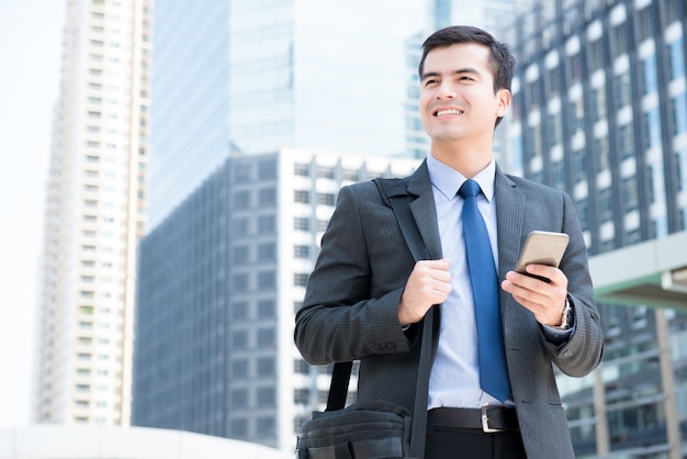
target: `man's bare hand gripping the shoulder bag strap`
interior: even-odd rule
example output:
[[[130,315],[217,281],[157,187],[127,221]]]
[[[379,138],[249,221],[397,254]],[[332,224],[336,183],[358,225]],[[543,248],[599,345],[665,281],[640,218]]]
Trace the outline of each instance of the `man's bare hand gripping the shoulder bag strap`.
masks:
[[[450,266],[448,258],[415,264],[398,304],[398,322],[402,326],[421,321],[432,305],[446,301],[451,292]]]

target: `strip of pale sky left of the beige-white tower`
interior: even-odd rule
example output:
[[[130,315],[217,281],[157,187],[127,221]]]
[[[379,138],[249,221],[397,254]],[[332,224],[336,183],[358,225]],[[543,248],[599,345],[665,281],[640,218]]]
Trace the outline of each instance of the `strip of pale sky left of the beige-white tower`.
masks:
[[[0,428],[27,425],[65,0],[0,0]]]

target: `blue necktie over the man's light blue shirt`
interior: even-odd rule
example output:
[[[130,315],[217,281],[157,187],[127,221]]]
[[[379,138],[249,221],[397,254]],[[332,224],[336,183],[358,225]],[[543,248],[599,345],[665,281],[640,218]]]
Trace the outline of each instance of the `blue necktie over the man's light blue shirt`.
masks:
[[[485,392],[505,402],[510,395],[510,381],[502,333],[498,279],[489,235],[477,209],[481,191],[476,181],[466,180],[458,193],[465,200],[462,217],[477,322],[480,384]]]

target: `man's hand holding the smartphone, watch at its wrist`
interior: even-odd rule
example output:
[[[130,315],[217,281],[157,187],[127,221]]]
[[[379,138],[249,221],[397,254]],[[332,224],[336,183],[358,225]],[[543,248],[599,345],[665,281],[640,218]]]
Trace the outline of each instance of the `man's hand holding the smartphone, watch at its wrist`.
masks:
[[[567,295],[567,278],[563,271],[552,266],[528,265],[526,269],[530,275],[547,278],[551,282],[508,271],[500,283],[502,289],[530,310],[540,324],[561,325]]]

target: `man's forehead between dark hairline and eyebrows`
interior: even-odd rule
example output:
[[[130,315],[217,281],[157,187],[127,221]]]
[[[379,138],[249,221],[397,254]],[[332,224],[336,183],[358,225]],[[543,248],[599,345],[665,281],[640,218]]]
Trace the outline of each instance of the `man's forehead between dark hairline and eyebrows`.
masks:
[[[469,67],[491,74],[489,57],[489,48],[477,43],[437,47],[427,53],[423,74],[455,71]]]

